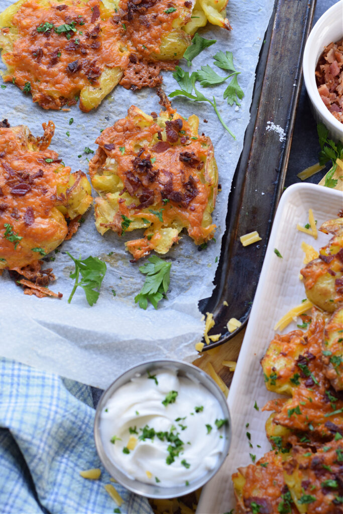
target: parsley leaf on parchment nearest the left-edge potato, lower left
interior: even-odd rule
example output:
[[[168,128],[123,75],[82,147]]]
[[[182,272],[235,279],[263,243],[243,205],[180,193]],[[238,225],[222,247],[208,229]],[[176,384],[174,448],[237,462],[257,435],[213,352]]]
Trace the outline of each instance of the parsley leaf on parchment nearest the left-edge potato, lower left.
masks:
[[[67,255],[69,255],[70,259],[75,263],[75,271],[70,273],[70,278],[75,279],[75,284],[68,298],[68,303],[71,302],[76,288],[80,286],[85,292],[88,304],[91,306],[94,305],[99,298],[100,293],[97,289],[100,289],[105,276],[106,264],[91,255],[83,261],[75,259],[69,252],[67,252]],[[82,279],[79,282],[80,273]]]

